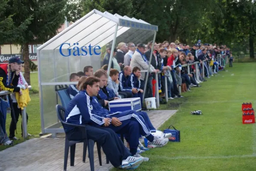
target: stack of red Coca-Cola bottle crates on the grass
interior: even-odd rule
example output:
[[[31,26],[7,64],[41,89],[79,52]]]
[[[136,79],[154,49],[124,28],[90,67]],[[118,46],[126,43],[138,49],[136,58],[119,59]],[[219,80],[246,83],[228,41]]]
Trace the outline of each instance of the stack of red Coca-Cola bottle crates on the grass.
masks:
[[[252,103],[243,103],[242,104],[243,111],[243,124],[254,124],[255,123],[255,113],[253,110]]]

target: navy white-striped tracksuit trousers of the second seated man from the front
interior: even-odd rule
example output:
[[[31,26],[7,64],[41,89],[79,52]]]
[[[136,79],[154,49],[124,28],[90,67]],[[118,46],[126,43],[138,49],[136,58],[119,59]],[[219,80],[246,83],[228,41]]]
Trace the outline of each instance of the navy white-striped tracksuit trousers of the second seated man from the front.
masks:
[[[140,118],[139,114],[135,110],[107,115],[107,117],[116,117],[122,122],[122,125],[119,127],[115,127],[113,124],[110,124],[108,128],[114,130],[116,133],[127,135],[125,139],[129,143],[131,155],[135,155],[137,153],[140,135],[145,136],[150,142],[154,140],[154,136],[149,132],[145,121]]]

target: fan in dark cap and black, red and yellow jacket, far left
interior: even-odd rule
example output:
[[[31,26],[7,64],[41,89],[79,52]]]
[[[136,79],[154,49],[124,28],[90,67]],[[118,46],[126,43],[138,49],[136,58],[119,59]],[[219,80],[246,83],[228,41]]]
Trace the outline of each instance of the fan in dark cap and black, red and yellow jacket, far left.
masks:
[[[12,57],[9,59],[9,64],[3,64],[0,65],[0,89],[1,91],[11,91],[11,92],[20,92],[22,94],[22,91],[18,85],[18,79],[19,79],[19,71],[21,70],[22,64],[24,62],[21,61],[19,57]],[[18,140],[18,138],[15,137],[15,128],[16,124],[18,122],[18,118],[20,115],[20,109],[18,109],[18,103],[13,103],[13,109],[15,113],[15,121],[11,121],[10,124],[10,134],[9,139]]]

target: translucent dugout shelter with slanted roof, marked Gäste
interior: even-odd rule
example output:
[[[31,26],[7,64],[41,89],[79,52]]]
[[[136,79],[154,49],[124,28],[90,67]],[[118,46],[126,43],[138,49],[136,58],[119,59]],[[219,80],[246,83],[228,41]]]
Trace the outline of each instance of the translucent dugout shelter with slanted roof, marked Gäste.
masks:
[[[78,48],[89,44],[92,47],[98,45],[101,47],[101,53],[103,54],[107,46],[112,47],[110,54],[110,62],[112,62],[116,42],[138,44],[153,39],[153,48],[157,31],[158,26],[151,25],[143,20],[127,16],[122,17],[118,14],[112,15],[109,12],[102,13],[94,9],[37,48],[41,134],[52,133],[52,136],[56,137],[56,133],[64,133],[63,128],[60,128],[61,123],[55,110],[55,106],[60,100],[58,100],[59,97],[54,86],[76,84],[69,81],[69,75],[83,71],[83,67],[86,65],[92,65],[94,70],[101,68],[99,61],[102,56],[91,54],[86,56],[60,56],[58,48],[61,44],[71,44],[70,47],[65,47],[66,53],[74,48],[73,43],[76,45],[78,43]],[[149,63],[151,63],[151,60],[152,52]],[[110,65],[107,73],[109,74],[109,72]],[[148,76],[149,70],[145,81],[148,80]],[[146,92],[145,88],[144,94]]]

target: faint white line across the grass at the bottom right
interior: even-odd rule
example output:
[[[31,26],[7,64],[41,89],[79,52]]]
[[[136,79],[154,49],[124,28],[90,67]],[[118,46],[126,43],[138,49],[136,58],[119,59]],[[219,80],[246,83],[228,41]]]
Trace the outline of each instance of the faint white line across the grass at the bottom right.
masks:
[[[167,160],[178,160],[178,159],[231,159],[231,158],[249,158],[256,157],[256,154],[251,155],[234,155],[234,156],[179,156],[179,157],[167,157],[167,156],[158,156],[152,155],[148,156],[149,158],[157,159],[167,159]]]

